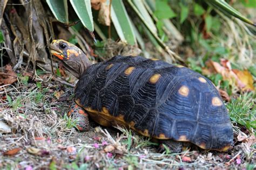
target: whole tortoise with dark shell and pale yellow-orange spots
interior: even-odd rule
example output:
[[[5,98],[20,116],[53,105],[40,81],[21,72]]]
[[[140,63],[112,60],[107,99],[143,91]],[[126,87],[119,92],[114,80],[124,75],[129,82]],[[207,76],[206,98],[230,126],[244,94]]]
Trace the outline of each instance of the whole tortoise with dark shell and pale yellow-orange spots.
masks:
[[[126,126],[180,152],[186,141],[205,150],[227,151],[233,130],[214,84],[184,66],[142,56],[92,64],[68,41],[53,40],[50,51],[79,81],[68,116],[89,130],[89,118],[103,126]]]

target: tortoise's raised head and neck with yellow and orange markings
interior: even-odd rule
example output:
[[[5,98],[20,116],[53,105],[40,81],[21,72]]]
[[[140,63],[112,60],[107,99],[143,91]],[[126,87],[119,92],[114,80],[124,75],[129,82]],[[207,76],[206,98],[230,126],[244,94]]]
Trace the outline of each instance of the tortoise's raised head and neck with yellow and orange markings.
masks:
[[[62,39],[51,42],[50,52],[52,55],[57,56],[64,63],[64,67],[78,79],[86,68],[92,65],[80,48]]]

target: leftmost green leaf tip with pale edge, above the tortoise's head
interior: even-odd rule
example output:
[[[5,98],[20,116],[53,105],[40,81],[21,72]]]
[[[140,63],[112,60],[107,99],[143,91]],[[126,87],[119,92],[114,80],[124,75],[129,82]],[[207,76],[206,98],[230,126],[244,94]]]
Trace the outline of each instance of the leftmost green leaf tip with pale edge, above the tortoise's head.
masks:
[[[46,0],[55,18],[62,23],[69,23],[68,2],[66,0]]]

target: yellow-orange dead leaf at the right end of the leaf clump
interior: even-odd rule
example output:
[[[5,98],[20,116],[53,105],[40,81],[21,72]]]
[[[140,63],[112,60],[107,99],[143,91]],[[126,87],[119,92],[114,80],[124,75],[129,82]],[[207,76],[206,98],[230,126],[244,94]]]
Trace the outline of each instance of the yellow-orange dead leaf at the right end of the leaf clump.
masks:
[[[238,76],[238,79],[245,84],[244,87],[242,87],[242,91],[253,91],[253,77],[248,70],[240,71],[238,69],[232,69],[232,71]]]

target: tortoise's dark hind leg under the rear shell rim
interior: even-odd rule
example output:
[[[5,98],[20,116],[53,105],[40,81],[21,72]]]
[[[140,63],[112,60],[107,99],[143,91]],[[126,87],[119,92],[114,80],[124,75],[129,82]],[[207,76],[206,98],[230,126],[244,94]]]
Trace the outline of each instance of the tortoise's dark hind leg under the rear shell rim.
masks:
[[[183,143],[175,140],[159,140],[160,145],[158,147],[158,152],[164,152],[165,146],[169,148],[171,153],[180,153],[182,151]],[[164,146],[165,145],[165,146]]]

